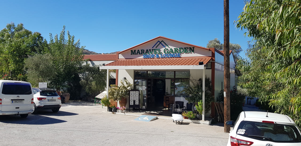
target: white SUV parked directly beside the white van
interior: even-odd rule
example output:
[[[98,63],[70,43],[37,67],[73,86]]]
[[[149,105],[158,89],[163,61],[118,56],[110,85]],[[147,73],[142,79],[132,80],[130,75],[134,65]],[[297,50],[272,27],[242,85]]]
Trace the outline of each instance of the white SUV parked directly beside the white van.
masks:
[[[48,109],[58,112],[62,106],[61,96],[50,88],[33,88],[33,102],[33,114],[36,114],[37,110]]]

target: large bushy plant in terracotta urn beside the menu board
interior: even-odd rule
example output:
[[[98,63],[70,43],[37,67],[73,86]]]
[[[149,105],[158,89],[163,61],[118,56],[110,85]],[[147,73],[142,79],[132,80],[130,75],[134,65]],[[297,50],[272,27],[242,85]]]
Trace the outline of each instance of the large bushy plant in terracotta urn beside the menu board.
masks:
[[[111,88],[109,90],[109,97],[111,100],[119,101],[119,105],[121,107],[126,106],[126,96],[129,94],[129,90],[131,89],[132,84],[130,84],[128,81],[125,81],[126,84],[121,80],[120,86],[117,86],[115,84],[110,85]]]

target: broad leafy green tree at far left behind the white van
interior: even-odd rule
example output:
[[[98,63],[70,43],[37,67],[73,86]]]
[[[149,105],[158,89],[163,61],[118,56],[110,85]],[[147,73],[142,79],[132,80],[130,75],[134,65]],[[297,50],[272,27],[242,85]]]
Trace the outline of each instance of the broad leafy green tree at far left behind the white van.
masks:
[[[47,42],[46,42],[47,44]],[[39,32],[31,32],[20,23],[13,22],[0,31],[0,72],[16,80],[24,74],[24,59],[33,52],[39,52],[45,47],[45,41]]]

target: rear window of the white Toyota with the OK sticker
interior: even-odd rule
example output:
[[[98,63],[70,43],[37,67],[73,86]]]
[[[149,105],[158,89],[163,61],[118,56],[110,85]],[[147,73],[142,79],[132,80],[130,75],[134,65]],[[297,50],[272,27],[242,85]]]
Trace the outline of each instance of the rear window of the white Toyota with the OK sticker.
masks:
[[[248,138],[274,142],[301,142],[301,135],[293,125],[242,121],[236,133]]]

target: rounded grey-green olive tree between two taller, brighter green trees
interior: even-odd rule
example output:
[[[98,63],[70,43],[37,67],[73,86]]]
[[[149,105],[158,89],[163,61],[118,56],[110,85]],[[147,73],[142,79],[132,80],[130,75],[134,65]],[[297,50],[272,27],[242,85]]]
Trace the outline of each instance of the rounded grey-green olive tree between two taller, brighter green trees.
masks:
[[[36,54],[25,60],[28,81],[38,87],[39,82],[48,82],[55,78],[55,66],[51,54]]]

